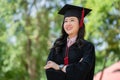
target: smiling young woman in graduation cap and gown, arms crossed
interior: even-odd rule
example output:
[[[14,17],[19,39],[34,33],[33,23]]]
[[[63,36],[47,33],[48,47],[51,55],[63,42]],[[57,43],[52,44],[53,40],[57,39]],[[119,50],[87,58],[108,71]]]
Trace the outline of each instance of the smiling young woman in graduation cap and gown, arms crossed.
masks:
[[[47,80],[93,80],[95,49],[84,40],[84,17],[90,9],[66,4],[59,14],[64,15],[62,35],[58,38],[45,65]]]

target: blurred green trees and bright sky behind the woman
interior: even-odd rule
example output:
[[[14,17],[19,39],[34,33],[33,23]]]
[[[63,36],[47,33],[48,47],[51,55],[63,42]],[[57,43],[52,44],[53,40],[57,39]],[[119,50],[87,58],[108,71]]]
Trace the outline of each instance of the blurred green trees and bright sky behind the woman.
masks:
[[[120,60],[120,0],[0,0],[0,80],[46,80],[66,3],[92,9],[84,22],[96,48],[95,74]]]

